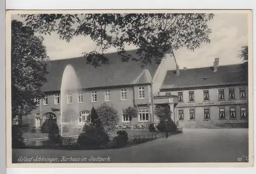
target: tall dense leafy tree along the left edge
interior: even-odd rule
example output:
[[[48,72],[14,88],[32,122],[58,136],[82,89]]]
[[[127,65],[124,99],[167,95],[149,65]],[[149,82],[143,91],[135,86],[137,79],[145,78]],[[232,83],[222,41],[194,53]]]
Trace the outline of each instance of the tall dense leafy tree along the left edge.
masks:
[[[40,88],[46,82],[48,56],[42,37],[31,27],[12,20],[11,29],[12,118],[18,116],[22,126],[22,117],[37,107],[35,98],[44,97]]]

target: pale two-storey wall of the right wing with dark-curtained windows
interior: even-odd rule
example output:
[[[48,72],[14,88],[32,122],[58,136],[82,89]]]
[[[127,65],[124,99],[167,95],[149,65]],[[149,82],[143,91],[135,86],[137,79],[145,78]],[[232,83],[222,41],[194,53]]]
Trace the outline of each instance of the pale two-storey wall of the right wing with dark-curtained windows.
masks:
[[[245,88],[245,99],[240,99],[240,88]],[[224,90],[224,99],[219,100],[218,90]],[[235,98],[229,99],[229,89],[234,89]],[[209,100],[204,101],[203,91],[209,91]],[[188,92],[194,91],[195,101],[189,101]],[[189,89],[189,90],[179,90],[179,91],[169,91],[161,92],[161,94],[172,93],[178,95],[178,92],[183,93],[183,102],[178,102],[175,107],[175,121],[179,127],[197,127],[197,126],[207,126],[214,125],[218,123],[237,123],[237,122],[248,122],[248,119],[240,118],[241,107],[246,107],[246,113],[248,118],[248,86],[238,85],[238,86],[225,86],[218,88],[209,89]],[[236,108],[236,119],[230,119],[230,107]],[[209,108],[210,119],[204,120],[204,109]],[[219,108],[225,108],[225,119],[219,119]],[[183,110],[184,120],[178,120],[178,111]],[[195,110],[195,120],[189,120],[189,110]]]

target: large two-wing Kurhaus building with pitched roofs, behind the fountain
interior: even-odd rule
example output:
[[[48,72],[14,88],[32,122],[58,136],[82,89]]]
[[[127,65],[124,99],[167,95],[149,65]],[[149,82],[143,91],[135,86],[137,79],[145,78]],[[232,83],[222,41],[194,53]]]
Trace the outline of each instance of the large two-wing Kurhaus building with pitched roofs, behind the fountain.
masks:
[[[131,51],[130,54],[135,54]],[[100,67],[87,64],[85,57],[51,61],[38,107],[23,123],[40,127],[50,116],[60,124],[60,86],[63,71],[70,64],[81,90],[65,96],[66,102],[79,105],[78,125],[87,121],[91,108],[105,103],[119,113],[121,124],[130,122],[122,115],[128,106],[137,107],[133,124],[159,122],[154,114],[157,104],[168,104],[179,127],[248,121],[248,82],[242,80],[238,65],[179,70],[171,57],[141,66],[139,61],[121,62],[117,53],[108,54],[109,63]],[[168,62],[168,64],[167,64]]]

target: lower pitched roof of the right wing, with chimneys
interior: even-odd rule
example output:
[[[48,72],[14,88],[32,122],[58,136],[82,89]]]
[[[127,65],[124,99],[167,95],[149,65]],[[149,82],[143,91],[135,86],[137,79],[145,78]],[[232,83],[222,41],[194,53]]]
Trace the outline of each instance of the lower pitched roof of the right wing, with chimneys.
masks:
[[[179,75],[176,75],[176,70],[167,71],[160,90],[247,83],[248,79],[244,80],[239,74],[238,66],[219,66],[217,72],[213,67],[186,69],[180,70]]]

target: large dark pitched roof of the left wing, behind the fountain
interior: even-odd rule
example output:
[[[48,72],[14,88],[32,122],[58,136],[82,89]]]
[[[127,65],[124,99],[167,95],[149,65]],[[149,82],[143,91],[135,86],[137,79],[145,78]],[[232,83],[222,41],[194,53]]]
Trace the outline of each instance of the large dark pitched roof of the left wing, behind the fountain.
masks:
[[[129,54],[135,57],[136,50],[129,51]],[[82,89],[150,83],[147,72],[150,72],[152,79],[158,67],[154,61],[143,68],[140,61],[121,62],[121,57],[117,53],[106,54],[106,57],[109,58],[109,63],[96,68],[87,64],[86,57],[51,61],[50,66],[47,67],[49,74],[46,78],[48,81],[42,86],[42,91],[60,91],[62,74],[68,64],[74,68]],[[144,73],[146,80],[142,80]],[[142,79],[138,78],[140,75]],[[137,78],[138,81],[134,83]]]

